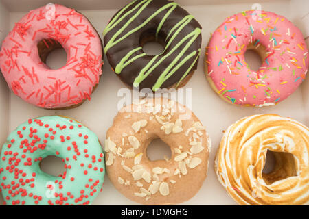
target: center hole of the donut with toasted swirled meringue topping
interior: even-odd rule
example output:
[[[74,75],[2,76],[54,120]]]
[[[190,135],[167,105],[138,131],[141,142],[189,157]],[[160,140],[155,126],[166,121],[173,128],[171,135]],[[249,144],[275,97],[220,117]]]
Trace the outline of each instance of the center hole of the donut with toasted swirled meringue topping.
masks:
[[[267,150],[262,177],[267,185],[297,176],[297,158],[286,152]]]

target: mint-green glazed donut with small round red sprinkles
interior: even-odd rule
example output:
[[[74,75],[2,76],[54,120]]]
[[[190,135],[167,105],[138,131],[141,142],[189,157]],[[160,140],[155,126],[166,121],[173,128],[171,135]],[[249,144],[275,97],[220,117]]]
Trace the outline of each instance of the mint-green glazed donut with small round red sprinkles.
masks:
[[[42,159],[62,158],[65,172],[43,172]],[[63,116],[29,119],[3,144],[0,191],[6,205],[89,205],[104,183],[104,154],[95,133]]]

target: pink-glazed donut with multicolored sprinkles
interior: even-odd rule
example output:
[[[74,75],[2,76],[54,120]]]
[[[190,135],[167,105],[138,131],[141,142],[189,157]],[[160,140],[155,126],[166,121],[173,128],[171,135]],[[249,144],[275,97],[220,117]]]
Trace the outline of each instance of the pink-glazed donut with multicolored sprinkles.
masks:
[[[258,71],[244,60],[247,50],[262,60]],[[214,31],[205,54],[205,75],[211,88],[228,103],[275,105],[304,81],[308,49],[301,31],[287,18],[249,10],[225,19]]]

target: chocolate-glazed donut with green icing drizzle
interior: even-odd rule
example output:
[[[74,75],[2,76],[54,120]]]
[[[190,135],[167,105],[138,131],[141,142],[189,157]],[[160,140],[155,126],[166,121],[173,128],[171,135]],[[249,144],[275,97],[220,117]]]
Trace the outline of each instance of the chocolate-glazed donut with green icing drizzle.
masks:
[[[184,86],[201,53],[201,25],[172,1],[128,3],[111,18],[103,36],[112,70],[126,86],[139,90]],[[143,45],[153,41],[163,46],[161,54],[144,53]]]

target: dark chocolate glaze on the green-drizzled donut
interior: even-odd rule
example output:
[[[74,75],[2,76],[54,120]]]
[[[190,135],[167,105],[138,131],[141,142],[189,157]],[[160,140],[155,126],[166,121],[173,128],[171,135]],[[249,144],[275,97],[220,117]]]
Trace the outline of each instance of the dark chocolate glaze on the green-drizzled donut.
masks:
[[[148,5],[146,5],[147,3]],[[155,15],[150,21],[148,21],[148,23],[142,25],[142,23],[144,23],[146,19],[150,18],[150,16],[158,12],[160,8],[171,3],[174,5],[166,7],[164,10]],[[141,7],[143,7],[144,5],[146,5],[146,7],[144,8],[144,10],[141,10]],[[130,12],[130,10],[133,10],[133,8],[135,7],[136,9]],[[170,68],[170,70],[175,69],[177,64],[179,64],[180,67],[176,71],[174,71],[174,73],[172,73],[172,75],[168,77],[168,79],[164,79],[163,83],[159,83],[159,86],[157,84],[157,88],[170,88],[172,86],[176,86],[177,83],[185,80],[186,77],[189,77],[190,73],[196,70],[198,56],[201,51],[201,25],[199,25],[199,23],[191,16],[192,18],[188,20],[187,24],[184,25],[182,29],[180,29],[179,27],[181,27],[181,24],[183,24],[183,21],[185,21],[184,18],[186,16],[189,16],[187,11],[183,10],[183,8],[181,8],[179,5],[176,5],[176,3],[166,0],[136,0],[133,3],[130,3],[128,8],[126,8],[124,11],[121,12],[121,10],[119,10],[111,19],[109,25],[112,28],[108,29],[109,27],[106,27],[108,31],[106,31],[106,29],[104,31],[105,51],[107,50],[106,56],[113,70],[115,70],[117,64],[119,64],[119,62],[121,62],[121,60],[126,55],[128,55],[128,53],[130,53],[130,51],[133,51],[138,47],[142,47],[142,45],[146,42],[157,40],[163,45],[163,47],[165,47],[166,44],[168,44],[169,40],[172,38],[173,34],[175,34],[178,29],[180,31],[178,34],[175,34],[174,40],[170,42],[170,45],[165,49],[165,51],[163,51],[161,55],[159,55],[159,57],[157,57],[157,59],[155,60],[155,62],[152,63],[151,66],[154,66],[157,61],[160,60],[164,55],[170,53],[170,51],[175,48],[176,45],[179,44],[179,42],[183,43],[180,47],[178,47],[175,51],[168,55],[163,60],[163,62],[159,63],[159,65],[153,68],[151,73],[139,83],[139,90],[143,88],[150,88],[152,90],[155,90],[154,86],[155,83],[158,81],[160,75],[164,72],[164,70],[168,68],[168,66],[173,62],[173,60],[176,59],[177,55],[179,55],[181,51],[183,51],[186,45],[187,50],[185,50],[183,55],[181,55],[180,59],[174,64],[174,66],[172,66],[172,68]],[[140,13],[139,10],[141,10]],[[127,12],[130,12],[130,14],[128,14],[128,16],[126,16],[122,21],[119,21],[119,19],[121,19],[122,16],[124,16],[124,14],[126,14]],[[133,18],[133,16],[136,17]],[[125,27],[122,31],[121,28],[124,27],[126,23],[128,23],[130,18],[133,18],[133,21],[129,23],[128,26]],[[161,29],[159,30],[158,36],[156,38],[158,26],[164,18],[166,19],[163,22],[163,25],[161,26]],[[129,31],[132,31],[140,25],[140,29],[133,32],[132,34],[129,34],[123,40],[117,42],[116,44],[113,44],[113,37],[114,40],[117,41],[124,35],[128,34]],[[175,25],[176,28],[171,31],[171,29],[175,27]],[[188,35],[192,34],[194,31],[195,38],[194,36],[189,37]],[[115,38],[115,34],[117,34],[117,32],[118,34],[120,34]],[[183,38],[187,39],[183,40]],[[190,42],[190,40],[193,41]],[[108,43],[109,45],[111,43],[113,45],[111,47],[106,47],[108,46]],[[192,55],[194,51],[195,53],[194,55]],[[137,51],[134,51],[134,53],[129,56],[128,60],[131,60],[137,55],[140,56],[133,60],[133,62],[130,62],[130,64],[122,68],[120,73],[118,72],[120,79],[122,79],[122,81],[124,81],[124,83],[126,83],[130,88],[133,88],[133,83],[135,82],[136,77],[141,73],[141,70],[143,70],[145,66],[155,57],[154,55],[146,54],[141,56],[141,54],[143,53],[144,51],[142,49],[137,49]],[[187,60],[183,62],[186,57]],[[180,62],[183,62],[183,64],[181,64]]]

